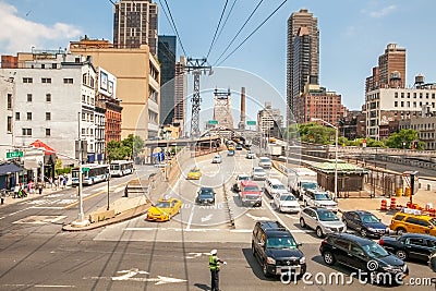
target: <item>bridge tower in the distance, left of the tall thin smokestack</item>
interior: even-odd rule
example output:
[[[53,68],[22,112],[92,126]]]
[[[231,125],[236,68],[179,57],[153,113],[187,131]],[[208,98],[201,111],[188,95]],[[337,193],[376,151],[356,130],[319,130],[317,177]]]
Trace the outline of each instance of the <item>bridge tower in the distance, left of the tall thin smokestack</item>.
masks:
[[[214,95],[214,120],[218,121],[218,126],[233,130],[230,89],[227,92],[215,89]]]

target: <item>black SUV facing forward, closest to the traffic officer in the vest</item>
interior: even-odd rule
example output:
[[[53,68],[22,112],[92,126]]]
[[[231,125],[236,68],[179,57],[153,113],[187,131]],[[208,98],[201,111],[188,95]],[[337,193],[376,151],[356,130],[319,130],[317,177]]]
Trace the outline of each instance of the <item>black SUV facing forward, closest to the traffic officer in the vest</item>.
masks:
[[[305,257],[299,246],[291,232],[278,221],[257,221],[254,226],[252,252],[265,277],[306,272]]]

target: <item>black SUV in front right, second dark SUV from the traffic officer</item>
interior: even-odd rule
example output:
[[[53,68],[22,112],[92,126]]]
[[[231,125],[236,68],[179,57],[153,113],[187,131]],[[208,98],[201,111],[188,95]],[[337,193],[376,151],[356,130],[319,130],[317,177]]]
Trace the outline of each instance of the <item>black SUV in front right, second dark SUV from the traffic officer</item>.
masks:
[[[402,259],[378,243],[354,234],[331,233],[322,242],[319,252],[327,265],[340,263],[354,268],[354,278],[370,283],[400,284],[409,275]]]

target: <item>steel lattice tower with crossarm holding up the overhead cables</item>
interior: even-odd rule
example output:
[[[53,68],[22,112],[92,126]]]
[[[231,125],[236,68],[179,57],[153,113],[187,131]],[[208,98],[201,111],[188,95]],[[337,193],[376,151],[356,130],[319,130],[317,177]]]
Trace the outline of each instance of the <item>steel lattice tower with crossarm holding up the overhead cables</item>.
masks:
[[[202,73],[209,72],[213,74],[211,66],[208,65],[207,59],[193,59],[187,58],[186,65],[184,66],[186,72],[192,72],[194,75],[194,92],[191,98],[192,101],[192,116],[191,116],[191,136],[199,136],[199,106],[202,98],[199,97],[199,76]]]

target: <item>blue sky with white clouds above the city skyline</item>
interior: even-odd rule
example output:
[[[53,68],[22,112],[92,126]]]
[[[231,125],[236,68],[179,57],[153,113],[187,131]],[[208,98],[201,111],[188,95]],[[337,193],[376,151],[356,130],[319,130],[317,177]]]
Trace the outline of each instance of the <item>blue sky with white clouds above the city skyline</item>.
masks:
[[[234,0],[229,0],[228,9]],[[156,0],[159,4],[159,0]],[[167,0],[189,57],[202,58],[209,46],[219,21],[225,0]],[[214,64],[227,44],[237,34],[257,0],[237,0],[233,11],[209,53]],[[230,48],[231,51],[265,20],[282,1],[265,0],[254,17]],[[165,1],[161,0],[165,5]],[[396,43],[407,49],[407,84],[413,85],[414,75],[422,73],[426,82],[436,82],[434,37],[434,0],[289,0],[221,66],[256,75],[268,89],[243,84],[247,94],[271,100],[281,107],[277,93],[286,98],[287,20],[292,12],[308,9],[318,19],[320,31],[320,85],[342,95],[349,109],[364,104],[365,77],[377,65],[378,56],[387,44]],[[225,14],[226,16],[226,14]],[[0,53],[58,49],[69,40],[87,35],[112,40],[113,8],[109,0],[0,0]],[[162,9],[159,13],[159,34],[174,35]],[[182,54],[178,44],[178,56]],[[239,90],[232,80],[211,87]],[[257,82],[255,82],[257,83]],[[207,88],[205,88],[207,89]]]

